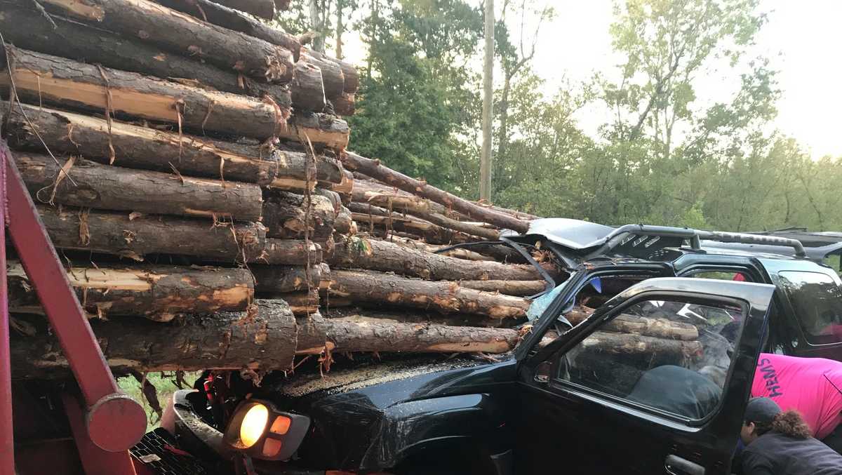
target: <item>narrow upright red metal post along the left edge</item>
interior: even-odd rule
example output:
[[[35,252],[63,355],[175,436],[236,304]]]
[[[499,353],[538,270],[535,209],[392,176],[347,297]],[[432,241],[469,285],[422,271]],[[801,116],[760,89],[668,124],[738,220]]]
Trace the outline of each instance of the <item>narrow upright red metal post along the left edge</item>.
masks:
[[[0,475],[14,475],[12,364],[6,286],[6,162],[9,159],[6,151],[0,149]]]

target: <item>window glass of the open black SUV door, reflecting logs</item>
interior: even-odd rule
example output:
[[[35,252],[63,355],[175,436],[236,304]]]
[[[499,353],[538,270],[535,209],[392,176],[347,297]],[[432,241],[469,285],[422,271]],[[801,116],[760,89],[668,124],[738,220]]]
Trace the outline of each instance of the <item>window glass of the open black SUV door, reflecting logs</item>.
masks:
[[[742,320],[739,307],[637,302],[562,355],[557,379],[703,419],[721,398]]]

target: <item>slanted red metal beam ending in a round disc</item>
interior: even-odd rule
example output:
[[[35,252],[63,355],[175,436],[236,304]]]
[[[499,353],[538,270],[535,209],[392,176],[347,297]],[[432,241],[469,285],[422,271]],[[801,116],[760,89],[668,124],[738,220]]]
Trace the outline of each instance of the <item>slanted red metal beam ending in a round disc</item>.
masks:
[[[146,413],[139,403],[117,387],[88,318],[3,141],[0,141],[0,153],[6,157],[9,235],[82,389],[87,406],[84,419],[90,440],[105,451],[126,451],[141,440],[146,431]],[[8,306],[3,307],[8,310]]]

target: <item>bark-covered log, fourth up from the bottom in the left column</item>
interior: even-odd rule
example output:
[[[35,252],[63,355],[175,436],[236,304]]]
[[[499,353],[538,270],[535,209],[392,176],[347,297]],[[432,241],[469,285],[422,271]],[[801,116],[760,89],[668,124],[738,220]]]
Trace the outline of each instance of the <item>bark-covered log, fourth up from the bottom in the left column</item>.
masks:
[[[243,221],[260,221],[262,215],[257,184],[179,179],[171,173],[111,167],[83,158],[71,159],[67,168],[46,155],[16,152],[13,157],[29,194],[40,203]]]

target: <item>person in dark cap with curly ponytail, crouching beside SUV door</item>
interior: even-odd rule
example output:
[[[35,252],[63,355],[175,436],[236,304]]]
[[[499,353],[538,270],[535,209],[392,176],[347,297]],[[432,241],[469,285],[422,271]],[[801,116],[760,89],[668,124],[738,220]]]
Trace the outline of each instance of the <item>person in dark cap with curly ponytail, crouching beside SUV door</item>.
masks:
[[[842,456],[813,439],[797,411],[752,398],[743,419],[743,475],[842,475]]]

